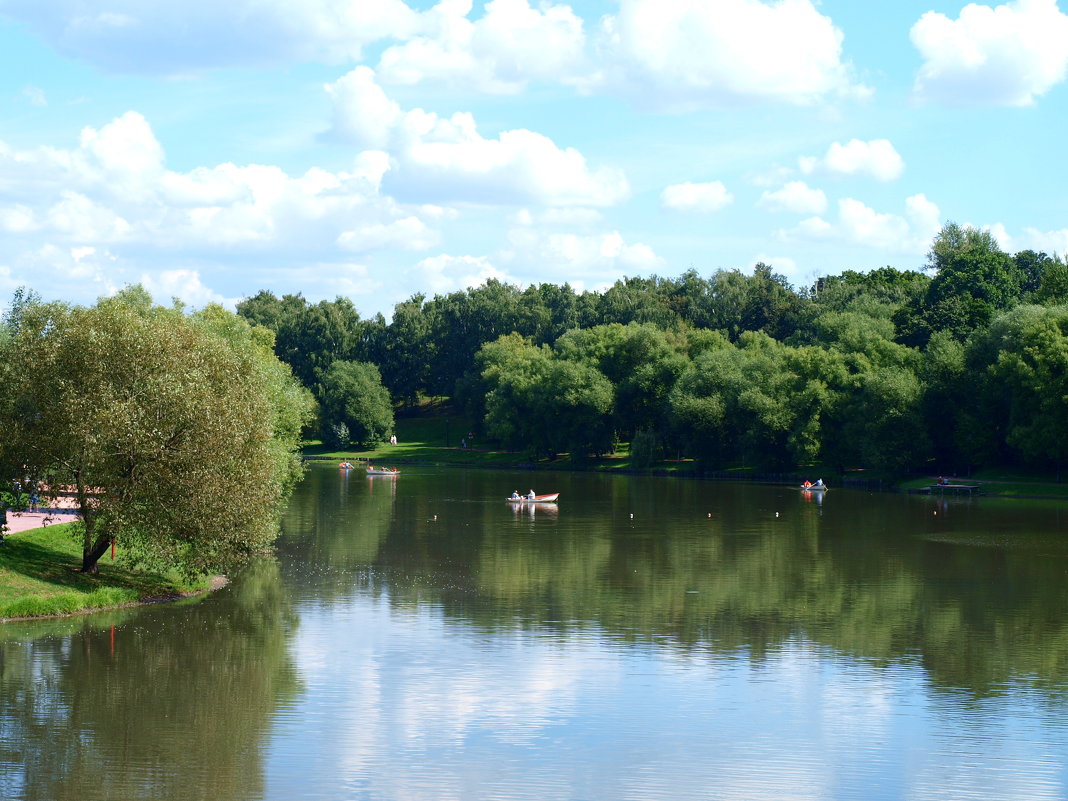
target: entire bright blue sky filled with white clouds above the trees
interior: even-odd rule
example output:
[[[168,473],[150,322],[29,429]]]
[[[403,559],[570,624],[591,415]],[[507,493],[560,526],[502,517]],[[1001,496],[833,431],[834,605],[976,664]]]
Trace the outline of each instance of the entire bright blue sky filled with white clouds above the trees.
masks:
[[[1064,254],[1066,10],[0,0],[0,304]]]

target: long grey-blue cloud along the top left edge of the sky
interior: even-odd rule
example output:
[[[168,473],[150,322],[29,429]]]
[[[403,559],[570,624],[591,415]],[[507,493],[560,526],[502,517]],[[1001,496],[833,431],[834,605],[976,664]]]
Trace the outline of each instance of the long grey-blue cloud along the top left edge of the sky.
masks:
[[[403,0],[4,0],[2,7],[67,56],[163,75],[350,61],[368,44],[408,38],[424,25]]]

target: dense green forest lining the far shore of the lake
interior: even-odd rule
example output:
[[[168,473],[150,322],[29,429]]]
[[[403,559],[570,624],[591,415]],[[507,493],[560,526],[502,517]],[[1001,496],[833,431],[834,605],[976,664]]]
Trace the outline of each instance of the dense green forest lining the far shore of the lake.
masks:
[[[794,287],[752,274],[625,278],[604,292],[488,281],[415,295],[392,319],[345,299],[261,292],[238,313],[320,404],[339,445],[447,397],[532,456],[690,456],[962,472],[1059,468],[1068,452],[1068,264],[946,224],[923,270]]]

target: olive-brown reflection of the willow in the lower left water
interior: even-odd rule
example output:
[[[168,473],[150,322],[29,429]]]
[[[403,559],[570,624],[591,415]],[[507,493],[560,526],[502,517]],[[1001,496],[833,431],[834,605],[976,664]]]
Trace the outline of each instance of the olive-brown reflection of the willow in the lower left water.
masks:
[[[185,609],[0,629],[0,797],[262,798],[294,622],[265,562]]]

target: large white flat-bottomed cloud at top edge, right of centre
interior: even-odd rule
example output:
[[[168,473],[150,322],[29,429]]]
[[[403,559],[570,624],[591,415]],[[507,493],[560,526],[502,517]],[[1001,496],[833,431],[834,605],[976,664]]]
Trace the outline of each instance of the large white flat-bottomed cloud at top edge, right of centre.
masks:
[[[602,20],[603,72],[587,85],[680,108],[864,96],[842,42],[810,0],[621,0]]]

